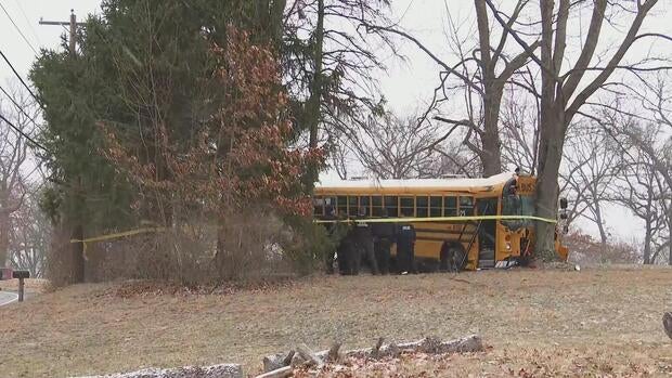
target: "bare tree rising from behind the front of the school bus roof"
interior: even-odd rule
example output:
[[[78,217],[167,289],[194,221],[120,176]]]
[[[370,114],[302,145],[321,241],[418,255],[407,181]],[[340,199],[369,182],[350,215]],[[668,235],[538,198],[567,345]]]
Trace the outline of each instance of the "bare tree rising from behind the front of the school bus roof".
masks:
[[[527,51],[508,54],[506,51],[509,40],[509,29],[522,14],[528,0],[519,0],[511,9],[507,28],[497,32],[491,25],[488,8],[484,0],[475,0],[475,13],[478,40],[475,44],[465,48],[467,38],[460,36],[460,30],[452,19],[448,1],[445,15],[448,18],[449,41],[452,57],[442,57],[439,52],[432,51],[417,37],[402,30],[397,25],[366,25],[370,30],[385,30],[400,36],[412,42],[439,67],[439,84],[435,89],[426,116],[441,103],[455,99],[451,93],[456,89],[464,90],[464,107],[466,118],[437,117],[436,119],[449,125],[462,126],[467,129],[465,144],[478,155],[484,175],[496,174],[502,171],[502,155],[500,140],[500,108],[506,82],[529,60]],[[539,45],[532,42],[529,47],[534,50]],[[473,140],[477,142],[474,143]]]

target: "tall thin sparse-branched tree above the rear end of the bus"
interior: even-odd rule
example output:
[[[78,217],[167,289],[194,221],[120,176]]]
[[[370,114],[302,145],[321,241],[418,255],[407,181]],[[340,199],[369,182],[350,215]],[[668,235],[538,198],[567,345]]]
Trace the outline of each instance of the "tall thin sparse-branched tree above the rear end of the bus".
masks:
[[[389,0],[281,2],[285,86],[297,123],[308,130],[308,146],[316,148],[321,131],[350,129],[379,105],[373,73],[385,65],[375,48],[395,48],[387,35],[367,34],[363,25],[387,23]],[[307,184],[316,178],[316,167],[310,167]]]

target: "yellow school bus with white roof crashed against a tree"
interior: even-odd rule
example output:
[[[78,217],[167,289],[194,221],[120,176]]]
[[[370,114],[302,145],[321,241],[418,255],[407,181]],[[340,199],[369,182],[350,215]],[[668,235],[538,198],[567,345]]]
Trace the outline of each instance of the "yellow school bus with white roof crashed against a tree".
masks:
[[[324,219],[328,207],[341,220],[357,219],[362,208],[371,219],[405,217],[416,232],[419,262],[445,269],[453,256],[461,270],[507,268],[525,264],[533,251],[535,221],[492,216],[534,216],[535,183],[534,177],[513,172],[478,179],[321,181],[314,217]],[[558,234],[556,251],[566,260],[568,249]]]

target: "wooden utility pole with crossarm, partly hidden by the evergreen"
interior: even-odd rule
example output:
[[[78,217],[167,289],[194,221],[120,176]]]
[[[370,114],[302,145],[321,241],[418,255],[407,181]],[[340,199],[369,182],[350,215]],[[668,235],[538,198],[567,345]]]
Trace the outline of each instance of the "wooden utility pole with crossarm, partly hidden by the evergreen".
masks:
[[[69,26],[69,40],[68,40],[68,50],[70,52],[70,58],[74,61],[77,57],[77,26],[82,26],[85,23],[78,23],[77,16],[75,15],[75,10],[70,10],[70,21],[69,22],[61,22],[61,21],[43,21],[40,18],[40,25],[56,25],[56,26]],[[72,260],[72,272],[70,279],[73,283],[83,283],[85,282],[85,245],[83,242],[72,243],[70,240],[82,240],[83,239],[83,217],[81,216],[81,208],[83,207],[83,198],[81,196],[82,185],[81,185],[81,177],[77,174],[74,178],[75,187],[75,203],[77,211],[74,216],[74,220],[69,222],[64,222],[65,224],[61,224],[60,226],[64,230],[66,227],[72,226],[72,231],[69,233],[70,239],[67,240],[70,245],[70,250],[73,260]],[[68,217],[69,218],[69,217]]]

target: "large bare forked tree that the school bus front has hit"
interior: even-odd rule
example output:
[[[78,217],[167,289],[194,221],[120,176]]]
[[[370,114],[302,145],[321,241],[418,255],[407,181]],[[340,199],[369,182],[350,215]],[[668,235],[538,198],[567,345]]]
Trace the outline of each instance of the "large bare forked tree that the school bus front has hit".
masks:
[[[534,53],[533,42],[529,42],[529,38],[526,40],[524,32],[514,29],[511,18],[505,19],[506,15],[500,12],[492,0],[484,1],[499,24],[509,31],[541,70],[537,213],[543,218],[555,218],[559,191],[558,174],[567,129],[574,116],[583,114],[581,107],[589,102],[595,92],[603,88],[615,70],[633,68],[633,65],[622,65],[623,57],[637,40],[654,36],[651,34],[639,34],[639,29],[658,0],[637,0],[633,5],[634,10],[628,10],[624,4],[611,3],[608,0],[594,0],[592,5],[587,1],[559,0],[557,6],[556,1],[541,1],[539,18],[541,26],[540,56]],[[572,66],[563,71],[563,65],[571,58],[566,55],[570,14],[581,12],[586,6],[592,8],[589,30]],[[596,50],[603,25],[605,22],[610,22],[609,16],[613,15],[613,12],[607,12],[609,6],[618,12],[626,10],[626,13],[632,15],[632,19],[625,36],[613,53],[610,56],[599,56],[596,54]],[[594,66],[592,64],[595,60],[607,63]],[[594,71],[595,75],[586,77],[587,71]],[[537,251],[552,251],[554,225],[539,222],[537,230],[539,235],[535,244]]]

